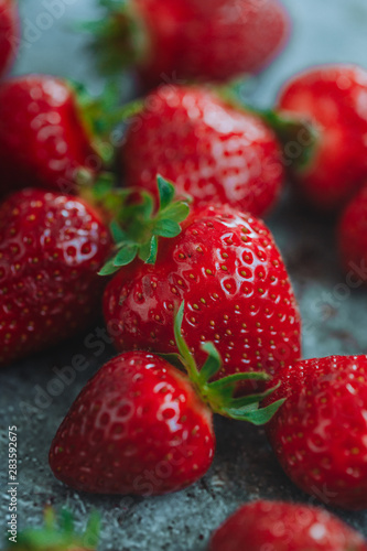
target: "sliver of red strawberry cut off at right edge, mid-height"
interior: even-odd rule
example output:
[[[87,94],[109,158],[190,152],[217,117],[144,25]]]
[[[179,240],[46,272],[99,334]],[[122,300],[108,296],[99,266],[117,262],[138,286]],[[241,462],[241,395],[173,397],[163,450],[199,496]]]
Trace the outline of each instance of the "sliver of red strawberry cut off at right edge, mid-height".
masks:
[[[338,246],[343,267],[350,279],[348,285],[358,288],[367,283],[367,186],[350,201],[338,226]]]

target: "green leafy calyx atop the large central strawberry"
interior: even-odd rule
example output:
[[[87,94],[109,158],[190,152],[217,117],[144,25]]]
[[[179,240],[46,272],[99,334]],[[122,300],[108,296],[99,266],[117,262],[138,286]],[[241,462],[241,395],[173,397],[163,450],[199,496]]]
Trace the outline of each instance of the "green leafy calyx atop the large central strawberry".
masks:
[[[119,217],[112,220],[110,230],[116,244],[115,252],[100,270],[100,276],[110,276],[136,258],[154,264],[159,237],[173,238],[181,233],[180,223],[190,213],[188,203],[174,201],[174,187],[162,176],[156,176],[156,183],[158,212],[154,212],[153,197],[148,193],[141,193],[140,203],[126,205],[120,209]],[[131,190],[128,193],[130,194]]]

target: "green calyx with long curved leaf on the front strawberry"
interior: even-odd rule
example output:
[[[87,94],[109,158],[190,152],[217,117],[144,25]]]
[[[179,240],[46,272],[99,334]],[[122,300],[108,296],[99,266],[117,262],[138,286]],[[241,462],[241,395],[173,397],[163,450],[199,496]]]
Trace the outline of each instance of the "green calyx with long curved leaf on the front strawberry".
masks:
[[[278,386],[265,392],[239,398],[235,397],[235,392],[239,382],[251,380],[268,381],[271,377],[266,372],[250,371],[230,375],[211,382],[211,379],[213,379],[222,368],[222,358],[213,343],[203,344],[202,349],[207,353],[208,357],[198,371],[195,360],[181,333],[183,313],[184,302],[181,304],[175,316],[174,336],[180,352],[180,359],[203,401],[208,403],[211,409],[220,415],[237,419],[239,421],[248,421],[256,425],[268,423],[285,400],[278,400],[266,408],[260,408],[259,404],[265,398],[274,392]]]

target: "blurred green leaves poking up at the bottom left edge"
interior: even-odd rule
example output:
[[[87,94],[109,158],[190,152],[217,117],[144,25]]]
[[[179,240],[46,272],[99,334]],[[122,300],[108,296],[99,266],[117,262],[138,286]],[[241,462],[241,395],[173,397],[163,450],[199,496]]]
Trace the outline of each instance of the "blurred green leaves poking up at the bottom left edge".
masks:
[[[63,509],[56,519],[55,511],[47,507],[44,511],[44,527],[29,528],[20,532],[17,543],[8,543],[7,549],[23,551],[73,551],[95,550],[98,545],[100,518],[97,512],[91,514],[84,533],[77,533],[74,519],[69,511]]]

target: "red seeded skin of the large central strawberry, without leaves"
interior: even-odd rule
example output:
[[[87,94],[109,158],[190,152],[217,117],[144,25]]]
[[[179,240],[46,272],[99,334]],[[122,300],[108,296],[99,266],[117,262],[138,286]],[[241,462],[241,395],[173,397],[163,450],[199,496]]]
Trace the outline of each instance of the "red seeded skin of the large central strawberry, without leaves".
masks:
[[[119,350],[175,353],[173,314],[185,300],[182,334],[198,367],[213,342],[224,365],[273,374],[300,357],[300,315],[269,229],[228,206],[194,209],[182,233],[161,239],[154,266],[134,260],[104,295]]]

